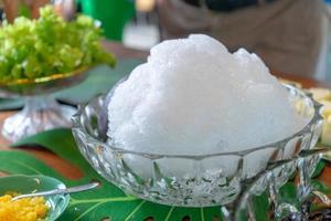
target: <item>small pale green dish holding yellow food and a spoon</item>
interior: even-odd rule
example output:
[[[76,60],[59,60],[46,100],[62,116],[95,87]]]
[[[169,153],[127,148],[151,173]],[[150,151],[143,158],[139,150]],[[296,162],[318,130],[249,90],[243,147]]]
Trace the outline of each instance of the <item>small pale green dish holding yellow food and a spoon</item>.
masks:
[[[8,176],[0,177],[0,196],[7,192],[31,193],[51,189],[65,189],[65,185],[57,179],[46,176]],[[68,194],[44,197],[50,210],[45,220],[55,221],[66,209],[70,202]]]

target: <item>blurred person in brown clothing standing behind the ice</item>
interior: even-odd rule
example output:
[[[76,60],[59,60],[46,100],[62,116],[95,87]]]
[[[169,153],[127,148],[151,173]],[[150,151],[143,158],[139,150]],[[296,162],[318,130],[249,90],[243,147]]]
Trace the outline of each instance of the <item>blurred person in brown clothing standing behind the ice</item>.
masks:
[[[320,0],[157,0],[162,39],[206,33],[246,48],[270,70],[312,75],[321,48]]]

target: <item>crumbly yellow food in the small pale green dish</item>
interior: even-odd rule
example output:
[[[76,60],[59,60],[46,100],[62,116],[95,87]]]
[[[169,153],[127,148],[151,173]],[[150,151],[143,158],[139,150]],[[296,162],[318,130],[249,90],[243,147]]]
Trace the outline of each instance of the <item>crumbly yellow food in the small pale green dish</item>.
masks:
[[[17,193],[0,197],[0,221],[42,221],[45,220],[49,207],[43,197],[11,199]]]

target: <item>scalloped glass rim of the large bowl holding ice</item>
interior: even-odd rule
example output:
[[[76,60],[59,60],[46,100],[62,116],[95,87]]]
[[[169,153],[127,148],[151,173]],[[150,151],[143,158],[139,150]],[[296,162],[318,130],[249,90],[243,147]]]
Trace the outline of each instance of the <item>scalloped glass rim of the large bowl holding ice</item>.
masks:
[[[299,93],[302,93],[306,95],[307,98],[309,98],[312,103],[312,107],[314,109],[314,113],[311,117],[311,119],[309,120],[309,123],[302,127],[299,131],[284,138],[284,139],[280,139],[280,140],[277,140],[277,141],[274,141],[274,143],[268,143],[266,145],[263,145],[263,146],[259,146],[259,147],[255,147],[255,148],[247,148],[247,149],[244,149],[244,150],[239,150],[239,151],[222,151],[222,152],[215,152],[215,154],[206,154],[206,155],[161,155],[161,154],[152,154],[152,152],[143,152],[143,151],[134,151],[134,150],[127,150],[127,149],[121,149],[121,148],[116,148],[116,147],[113,147],[110,145],[108,145],[107,143],[104,143],[102,140],[98,140],[97,138],[93,137],[85,128],[84,126],[82,125],[81,123],[81,115],[83,114],[83,109],[88,106],[89,103],[87,104],[84,104],[84,105],[79,105],[78,106],[78,110],[76,114],[73,115],[72,117],[72,122],[73,122],[73,127],[72,129],[76,129],[78,131],[82,131],[84,133],[88,139],[92,139],[92,140],[95,140],[97,143],[103,143],[105,146],[109,147],[111,150],[118,152],[118,154],[132,154],[132,155],[139,155],[139,156],[143,156],[143,157],[148,157],[150,159],[157,159],[157,158],[188,158],[188,159],[204,159],[204,158],[210,158],[210,157],[215,157],[215,156],[228,156],[228,155],[237,155],[237,156],[245,156],[245,155],[248,155],[250,152],[254,152],[254,151],[257,151],[257,150],[261,150],[261,149],[266,149],[270,146],[277,146],[277,144],[279,143],[287,143],[289,140],[291,140],[293,137],[296,136],[301,136],[301,135],[305,135],[307,131],[310,131],[310,128],[311,126],[313,126],[314,123],[317,123],[318,120],[322,120],[323,117],[321,116],[320,114],[320,110],[322,108],[322,105],[318,102],[316,102],[313,98],[312,98],[312,94],[310,93],[306,93],[303,92],[302,90],[300,88],[297,88],[292,85],[289,85],[289,84],[282,84],[284,86],[286,87],[289,87],[291,90],[296,90],[298,91]]]

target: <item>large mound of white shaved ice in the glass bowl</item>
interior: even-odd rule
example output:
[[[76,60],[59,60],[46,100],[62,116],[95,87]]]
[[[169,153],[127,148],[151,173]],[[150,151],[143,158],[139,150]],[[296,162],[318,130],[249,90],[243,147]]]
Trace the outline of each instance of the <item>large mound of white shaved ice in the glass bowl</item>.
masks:
[[[117,147],[168,155],[255,148],[308,123],[256,54],[203,34],[153,46],[116,87],[108,119]]]

